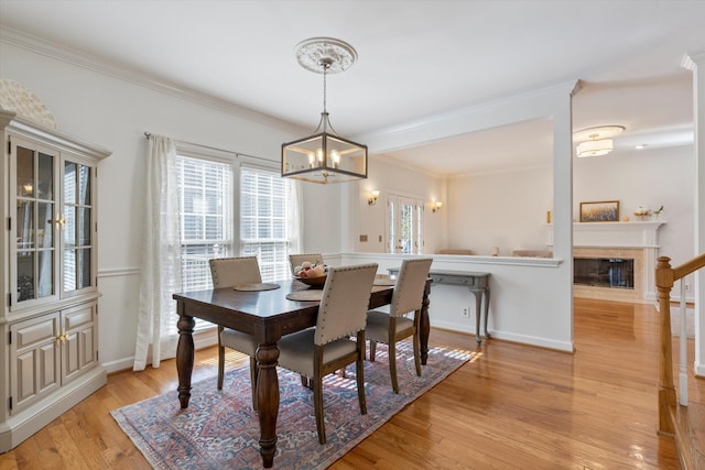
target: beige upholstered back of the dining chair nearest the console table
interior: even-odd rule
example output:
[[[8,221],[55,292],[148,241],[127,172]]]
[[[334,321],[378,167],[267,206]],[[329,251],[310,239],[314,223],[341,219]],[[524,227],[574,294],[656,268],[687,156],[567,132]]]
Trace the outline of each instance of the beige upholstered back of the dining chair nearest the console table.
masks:
[[[400,317],[421,308],[432,258],[403,260],[397,276],[389,315]]]

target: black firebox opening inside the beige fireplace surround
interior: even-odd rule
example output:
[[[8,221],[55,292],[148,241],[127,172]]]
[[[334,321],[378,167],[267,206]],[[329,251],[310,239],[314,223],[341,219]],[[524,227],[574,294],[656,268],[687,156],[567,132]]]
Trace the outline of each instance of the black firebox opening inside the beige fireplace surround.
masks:
[[[623,258],[573,259],[573,284],[634,288],[634,260]]]

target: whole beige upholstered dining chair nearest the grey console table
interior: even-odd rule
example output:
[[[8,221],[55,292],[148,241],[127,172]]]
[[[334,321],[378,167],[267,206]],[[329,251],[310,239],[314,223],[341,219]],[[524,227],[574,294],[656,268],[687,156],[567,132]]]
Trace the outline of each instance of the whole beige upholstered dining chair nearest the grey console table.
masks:
[[[397,276],[389,313],[370,310],[367,314],[365,337],[370,341],[370,361],[375,362],[377,343],[389,345],[389,374],[394,393],[399,393],[397,379],[397,342],[412,337],[416,375],[421,376],[421,354],[419,330],[423,292],[425,289],[431,258],[403,260]],[[405,315],[413,311],[413,318]]]

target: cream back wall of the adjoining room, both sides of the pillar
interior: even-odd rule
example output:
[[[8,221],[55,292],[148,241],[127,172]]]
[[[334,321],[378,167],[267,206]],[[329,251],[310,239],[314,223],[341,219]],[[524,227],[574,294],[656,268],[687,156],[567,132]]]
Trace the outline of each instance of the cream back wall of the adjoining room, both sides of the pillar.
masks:
[[[695,168],[692,145],[575,159],[573,219],[579,204],[619,200],[620,220],[637,220],[638,206],[655,209],[665,225],[659,230],[659,255],[677,265],[693,256]],[[448,181],[448,247],[509,255],[517,249],[546,249],[546,211],[553,210],[552,168],[455,177]],[[674,291],[673,293],[677,293]]]

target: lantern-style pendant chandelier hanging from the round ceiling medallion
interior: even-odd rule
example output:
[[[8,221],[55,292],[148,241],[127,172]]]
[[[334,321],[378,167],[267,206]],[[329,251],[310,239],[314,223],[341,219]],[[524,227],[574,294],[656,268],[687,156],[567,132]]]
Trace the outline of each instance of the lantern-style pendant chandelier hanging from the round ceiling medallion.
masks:
[[[296,59],[323,74],[323,112],[313,135],[282,144],[282,176],[321,184],[367,178],[367,145],[339,136],[326,111],[327,75],[349,68],[357,52],[340,40],[312,37],[296,45]]]

